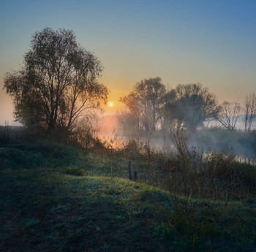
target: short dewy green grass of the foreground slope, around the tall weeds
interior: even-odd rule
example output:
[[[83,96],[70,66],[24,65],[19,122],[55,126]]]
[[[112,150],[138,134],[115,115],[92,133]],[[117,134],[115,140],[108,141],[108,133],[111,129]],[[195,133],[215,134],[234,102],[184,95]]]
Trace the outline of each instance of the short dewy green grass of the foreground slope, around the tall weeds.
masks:
[[[2,251],[192,251],[156,210],[171,211],[165,191],[115,177],[116,159],[83,156],[42,142],[0,148]],[[87,175],[67,175],[70,165]],[[255,209],[255,199],[220,203],[222,217],[195,251],[255,251]]]

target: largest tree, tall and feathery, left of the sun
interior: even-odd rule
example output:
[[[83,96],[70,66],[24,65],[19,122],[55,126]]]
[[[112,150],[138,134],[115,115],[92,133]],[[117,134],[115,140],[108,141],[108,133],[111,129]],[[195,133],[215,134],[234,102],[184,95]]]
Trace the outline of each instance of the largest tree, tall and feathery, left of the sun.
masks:
[[[23,68],[7,73],[4,88],[18,121],[72,131],[78,118],[107,102],[108,89],[97,81],[101,72],[99,60],[78,45],[72,31],[45,28],[32,37]]]

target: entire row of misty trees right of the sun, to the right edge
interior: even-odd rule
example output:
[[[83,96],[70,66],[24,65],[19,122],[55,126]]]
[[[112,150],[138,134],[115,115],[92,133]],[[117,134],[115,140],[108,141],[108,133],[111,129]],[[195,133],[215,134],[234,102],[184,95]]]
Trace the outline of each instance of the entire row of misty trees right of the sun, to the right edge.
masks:
[[[155,131],[157,129],[195,130],[211,121],[234,130],[238,119],[245,131],[252,129],[256,118],[256,96],[246,96],[244,106],[237,102],[218,104],[217,96],[201,83],[179,84],[167,89],[160,77],[141,80],[133,91],[123,96],[124,109],[118,121],[124,130]]]

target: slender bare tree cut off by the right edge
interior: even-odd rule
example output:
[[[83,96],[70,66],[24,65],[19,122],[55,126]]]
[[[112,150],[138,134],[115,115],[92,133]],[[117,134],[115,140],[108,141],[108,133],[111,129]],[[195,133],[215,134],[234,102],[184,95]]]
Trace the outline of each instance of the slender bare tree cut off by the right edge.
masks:
[[[252,122],[256,118],[256,96],[252,93],[250,96],[246,96],[244,104],[244,129],[245,131],[250,131],[252,127]]]

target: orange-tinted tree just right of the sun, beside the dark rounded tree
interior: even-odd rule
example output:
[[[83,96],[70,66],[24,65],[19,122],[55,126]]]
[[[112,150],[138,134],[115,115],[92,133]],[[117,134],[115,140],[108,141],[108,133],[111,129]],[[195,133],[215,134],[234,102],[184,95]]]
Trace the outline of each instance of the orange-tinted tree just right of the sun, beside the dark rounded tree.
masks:
[[[165,85],[160,77],[141,80],[135,84],[128,96],[121,97],[120,101],[126,107],[126,119],[134,115],[140,129],[154,131],[159,123],[163,106],[163,96],[166,93]],[[124,118],[124,114],[123,114]]]

